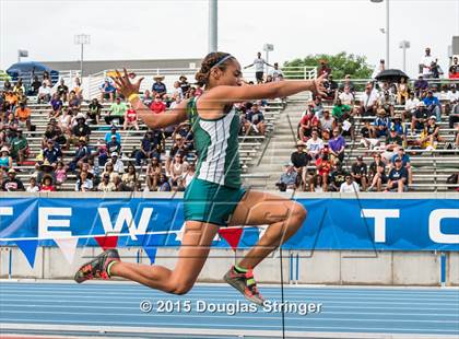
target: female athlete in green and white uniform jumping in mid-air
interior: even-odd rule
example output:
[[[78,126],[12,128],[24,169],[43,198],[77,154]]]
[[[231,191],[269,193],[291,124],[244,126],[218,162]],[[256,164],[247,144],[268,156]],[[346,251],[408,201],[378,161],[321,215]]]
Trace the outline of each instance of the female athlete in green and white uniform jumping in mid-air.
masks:
[[[259,242],[224,280],[259,305],[252,269],[272,250],[286,242],[306,219],[297,202],[240,187],[238,155],[239,117],[233,104],[250,100],[285,97],[302,91],[325,95],[326,75],[310,81],[282,81],[243,85],[240,65],[229,54],[211,52],[196,74],[205,85],[204,93],[180,103],[172,113],[151,114],[138,95],[142,79],[131,83],[128,72],[117,72],[118,90],[129,100],[139,117],[150,128],[163,128],[189,120],[198,154],[196,174],[184,196],[186,227],[178,261],[173,270],[160,265],[146,266],[120,261],[116,249],[108,249],[83,265],[76,282],[122,277],[152,289],[185,294],[195,284],[219,227],[227,225],[266,225]]]

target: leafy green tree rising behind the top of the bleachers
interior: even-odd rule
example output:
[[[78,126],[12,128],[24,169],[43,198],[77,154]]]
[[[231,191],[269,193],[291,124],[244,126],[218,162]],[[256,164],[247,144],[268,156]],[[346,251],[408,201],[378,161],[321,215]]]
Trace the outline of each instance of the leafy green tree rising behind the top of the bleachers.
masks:
[[[284,67],[316,67],[320,66],[320,60],[326,60],[331,68],[333,79],[344,79],[345,74],[351,74],[352,79],[368,79],[372,77],[373,69],[366,62],[366,57],[348,55],[345,51],[331,55],[309,55],[304,59],[285,61]]]

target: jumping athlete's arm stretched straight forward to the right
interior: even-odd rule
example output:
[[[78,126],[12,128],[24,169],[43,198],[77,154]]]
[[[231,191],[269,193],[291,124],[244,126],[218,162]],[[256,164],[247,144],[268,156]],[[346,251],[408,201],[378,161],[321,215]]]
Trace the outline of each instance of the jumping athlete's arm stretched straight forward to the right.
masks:
[[[311,91],[318,95],[326,95],[323,81],[327,74],[306,81],[285,80],[248,86],[216,86],[202,97],[209,101],[243,102],[258,98],[276,98],[293,95],[303,91]]]

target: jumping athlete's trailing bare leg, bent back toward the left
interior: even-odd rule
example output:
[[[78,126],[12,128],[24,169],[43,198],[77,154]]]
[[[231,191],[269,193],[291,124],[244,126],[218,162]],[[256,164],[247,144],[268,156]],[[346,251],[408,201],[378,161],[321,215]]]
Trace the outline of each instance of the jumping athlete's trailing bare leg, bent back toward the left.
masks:
[[[198,279],[217,231],[217,225],[189,221],[174,270],[160,265],[148,266],[120,261],[113,265],[110,276],[133,280],[164,292],[185,294]]]

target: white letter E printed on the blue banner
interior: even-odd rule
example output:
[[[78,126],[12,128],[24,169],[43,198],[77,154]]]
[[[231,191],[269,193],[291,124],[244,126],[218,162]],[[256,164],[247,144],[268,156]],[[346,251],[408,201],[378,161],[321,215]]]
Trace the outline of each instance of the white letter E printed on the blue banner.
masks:
[[[64,215],[71,217],[72,209],[70,207],[55,208],[55,207],[40,207],[38,208],[38,238],[59,238],[71,237],[70,231],[49,231],[49,227],[68,227],[70,229],[70,220],[59,219],[49,220],[50,215]]]

